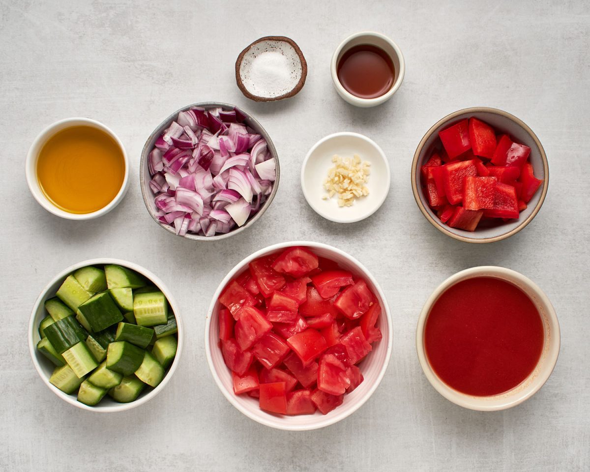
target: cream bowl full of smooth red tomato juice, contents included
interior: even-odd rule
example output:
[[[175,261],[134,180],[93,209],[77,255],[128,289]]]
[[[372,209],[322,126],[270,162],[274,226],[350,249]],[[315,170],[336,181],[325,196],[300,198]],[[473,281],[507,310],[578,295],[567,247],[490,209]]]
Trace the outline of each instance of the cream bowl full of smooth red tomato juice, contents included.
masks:
[[[559,354],[559,323],[543,291],[503,267],[445,280],[422,309],[418,360],[428,381],[461,407],[495,411],[534,395]]]

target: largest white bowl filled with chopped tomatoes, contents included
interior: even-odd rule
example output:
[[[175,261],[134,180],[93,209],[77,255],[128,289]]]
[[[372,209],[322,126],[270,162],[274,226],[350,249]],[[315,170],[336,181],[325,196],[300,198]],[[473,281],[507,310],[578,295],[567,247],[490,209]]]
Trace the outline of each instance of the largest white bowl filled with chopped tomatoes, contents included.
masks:
[[[391,357],[391,313],[351,255],[283,242],[221,281],[205,349],[219,389],[244,415],[281,430],[314,430],[348,417],[378,387]]]

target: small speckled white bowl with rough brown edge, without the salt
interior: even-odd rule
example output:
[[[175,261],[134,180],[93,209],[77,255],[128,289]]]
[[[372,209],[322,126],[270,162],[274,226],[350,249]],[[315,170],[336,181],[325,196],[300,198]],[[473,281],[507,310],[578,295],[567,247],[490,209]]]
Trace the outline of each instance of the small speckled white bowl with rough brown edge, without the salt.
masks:
[[[284,55],[289,63],[291,87],[283,90],[267,91],[261,84],[254,83],[251,67],[253,61],[262,53],[276,51]],[[235,61],[235,81],[241,92],[254,101],[276,101],[289,99],[303,88],[307,77],[307,62],[295,41],[284,36],[266,36],[248,45]]]

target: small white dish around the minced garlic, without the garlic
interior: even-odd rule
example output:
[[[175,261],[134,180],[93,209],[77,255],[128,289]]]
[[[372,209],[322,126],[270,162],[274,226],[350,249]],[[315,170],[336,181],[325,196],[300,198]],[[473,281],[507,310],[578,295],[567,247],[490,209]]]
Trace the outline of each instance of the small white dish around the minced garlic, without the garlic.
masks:
[[[327,195],[324,180],[328,169],[334,166],[332,157],[352,158],[358,154],[361,160],[371,163],[369,195],[355,200],[352,207],[339,207],[337,195]],[[359,133],[335,133],[320,139],[307,152],[301,165],[301,189],[307,203],[322,217],[337,223],[353,223],[375,213],[385,201],[391,183],[389,162],[383,150],[372,139]]]

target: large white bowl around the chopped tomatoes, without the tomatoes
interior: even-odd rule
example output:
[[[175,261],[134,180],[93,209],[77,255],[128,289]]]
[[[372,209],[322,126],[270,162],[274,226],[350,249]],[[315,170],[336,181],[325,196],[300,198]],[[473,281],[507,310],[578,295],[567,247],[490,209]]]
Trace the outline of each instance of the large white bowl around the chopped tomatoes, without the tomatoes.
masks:
[[[248,395],[235,395],[231,372],[227,366],[225,366],[221,349],[219,349],[218,346],[218,314],[220,308],[218,298],[221,291],[232,278],[248,267],[250,261],[258,257],[263,257],[264,255],[278,253],[284,248],[291,246],[309,247],[320,257],[326,257],[336,261],[340,264],[340,267],[345,270],[349,270],[353,274],[363,277],[369,286],[369,289],[371,289],[379,299],[379,303],[381,303],[381,306],[383,307],[382,315],[379,317],[377,324],[379,329],[381,329],[383,338],[378,343],[373,344],[373,350],[359,365],[365,380],[353,392],[344,396],[344,402],[342,405],[333,409],[327,415],[322,415],[320,412],[316,412],[313,415],[299,416],[274,415],[261,410],[260,407],[258,407],[257,399],[251,398]],[[205,322],[205,353],[207,354],[207,362],[209,363],[209,369],[211,369],[213,378],[221,390],[221,393],[224,394],[225,398],[227,398],[235,408],[248,418],[254,419],[254,421],[272,428],[289,431],[316,430],[317,428],[323,428],[324,426],[334,424],[341,419],[348,417],[348,415],[351,415],[359,409],[369,399],[373,392],[375,392],[376,388],[379,386],[379,382],[381,382],[381,379],[385,374],[389,358],[391,358],[392,339],[393,328],[391,312],[389,311],[385,295],[375,278],[373,278],[365,266],[351,255],[320,242],[281,242],[280,244],[273,244],[249,255],[232,268],[230,273],[228,273],[221,281],[219,287],[217,287],[213,300],[211,301],[211,306],[209,306],[207,321]]]

